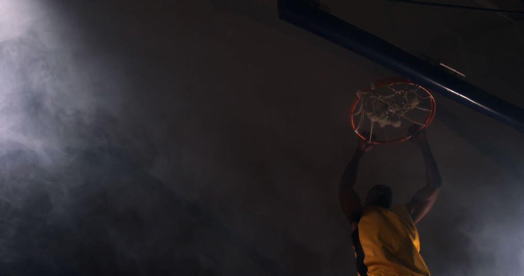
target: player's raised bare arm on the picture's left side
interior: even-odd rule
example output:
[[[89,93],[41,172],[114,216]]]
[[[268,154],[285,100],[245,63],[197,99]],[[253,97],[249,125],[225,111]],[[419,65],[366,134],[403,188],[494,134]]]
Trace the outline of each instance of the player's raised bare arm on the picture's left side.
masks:
[[[350,221],[352,230],[354,230],[358,224],[358,220],[361,215],[362,205],[360,197],[353,189],[355,186],[358,172],[358,163],[362,156],[372,148],[371,144],[367,143],[363,139],[358,139],[357,149],[350,163],[347,165],[342,175],[342,180],[339,186],[339,197],[342,205],[342,210]]]

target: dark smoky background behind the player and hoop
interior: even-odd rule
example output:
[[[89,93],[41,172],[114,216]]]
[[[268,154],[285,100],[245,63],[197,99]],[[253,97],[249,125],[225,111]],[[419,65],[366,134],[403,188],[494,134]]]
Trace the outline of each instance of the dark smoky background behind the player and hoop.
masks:
[[[323,3],[524,107],[524,17]],[[356,275],[348,108],[390,75],[274,0],[0,0],[0,274]],[[434,275],[520,275],[524,136],[435,97],[444,188],[422,255]],[[417,148],[367,154],[356,189],[378,183],[407,202]]]

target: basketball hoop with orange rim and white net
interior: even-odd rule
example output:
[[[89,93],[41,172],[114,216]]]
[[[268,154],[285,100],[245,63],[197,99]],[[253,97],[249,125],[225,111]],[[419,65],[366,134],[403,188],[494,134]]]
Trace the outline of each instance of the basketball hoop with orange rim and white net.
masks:
[[[390,77],[357,91],[351,106],[351,126],[370,143],[400,143],[411,138],[411,125],[420,125],[419,131],[427,128],[435,111],[435,99],[428,89],[407,78]],[[372,135],[376,136],[373,141]]]

